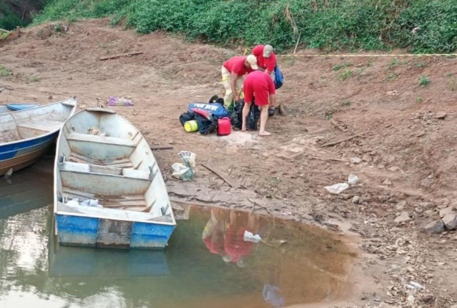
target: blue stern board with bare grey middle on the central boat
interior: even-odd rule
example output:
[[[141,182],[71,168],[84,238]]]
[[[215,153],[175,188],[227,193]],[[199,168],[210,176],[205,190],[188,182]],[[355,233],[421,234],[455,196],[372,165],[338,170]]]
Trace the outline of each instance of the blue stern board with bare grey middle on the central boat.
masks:
[[[56,214],[58,242],[67,246],[164,249],[174,225]]]

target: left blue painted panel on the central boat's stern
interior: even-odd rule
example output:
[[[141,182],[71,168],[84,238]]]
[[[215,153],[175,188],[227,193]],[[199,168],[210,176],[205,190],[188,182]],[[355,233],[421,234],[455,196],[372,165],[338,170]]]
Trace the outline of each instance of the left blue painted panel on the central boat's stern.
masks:
[[[56,214],[59,243],[95,246],[98,218]]]

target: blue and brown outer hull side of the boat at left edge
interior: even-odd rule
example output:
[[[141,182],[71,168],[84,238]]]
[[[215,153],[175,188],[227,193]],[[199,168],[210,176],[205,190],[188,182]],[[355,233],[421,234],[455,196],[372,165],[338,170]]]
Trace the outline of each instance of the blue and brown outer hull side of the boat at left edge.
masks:
[[[36,162],[53,145],[57,136],[58,132],[55,132],[33,140],[0,145],[0,176],[11,168],[16,171]]]

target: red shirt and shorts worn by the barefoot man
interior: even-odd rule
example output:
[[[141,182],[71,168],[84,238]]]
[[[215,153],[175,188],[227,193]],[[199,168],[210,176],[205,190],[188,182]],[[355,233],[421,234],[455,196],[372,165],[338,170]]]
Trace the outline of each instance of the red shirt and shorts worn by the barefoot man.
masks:
[[[276,93],[275,84],[270,75],[260,70],[256,70],[246,76],[243,91],[244,101],[252,103],[252,99],[255,96],[255,104],[257,106],[268,105],[268,96]]]

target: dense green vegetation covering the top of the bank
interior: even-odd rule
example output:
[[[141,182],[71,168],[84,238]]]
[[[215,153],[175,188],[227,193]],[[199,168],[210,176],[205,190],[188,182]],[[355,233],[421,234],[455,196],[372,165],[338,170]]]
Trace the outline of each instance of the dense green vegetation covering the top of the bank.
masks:
[[[456,0],[49,0],[34,22],[112,16],[112,23],[221,44],[297,42],[325,51],[457,50]]]

